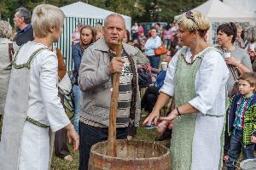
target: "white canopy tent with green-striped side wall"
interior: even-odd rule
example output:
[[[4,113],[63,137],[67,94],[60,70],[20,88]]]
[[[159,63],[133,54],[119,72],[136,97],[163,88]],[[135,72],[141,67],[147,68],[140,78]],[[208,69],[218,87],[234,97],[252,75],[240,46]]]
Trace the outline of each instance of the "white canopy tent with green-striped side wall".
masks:
[[[98,8],[87,3],[72,3],[67,6],[61,7],[61,10],[65,14],[63,33],[56,47],[61,49],[64,59],[66,59],[67,70],[73,70],[72,59],[72,44],[71,36],[77,24],[80,22],[83,25],[95,26],[97,22],[104,23],[104,19],[113,14],[112,11],[108,11],[103,8]],[[122,15],[125,19],[126,29],[131,30],[131,17]]]

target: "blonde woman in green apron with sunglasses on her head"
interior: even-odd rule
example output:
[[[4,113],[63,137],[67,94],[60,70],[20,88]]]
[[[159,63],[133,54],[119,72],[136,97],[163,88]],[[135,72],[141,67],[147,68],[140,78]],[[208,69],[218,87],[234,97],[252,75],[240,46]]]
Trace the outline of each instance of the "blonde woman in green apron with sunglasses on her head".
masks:
[[[204,41],[210,25],[203,14],[188,11],[178,26],[183,48],[172,58],[160,96],[143,123],[157,123],[160,109],[173,97],[176,109],[158,124],[160,132],[172,127],[172,169],[219,169],[229,71],[218,49]]]

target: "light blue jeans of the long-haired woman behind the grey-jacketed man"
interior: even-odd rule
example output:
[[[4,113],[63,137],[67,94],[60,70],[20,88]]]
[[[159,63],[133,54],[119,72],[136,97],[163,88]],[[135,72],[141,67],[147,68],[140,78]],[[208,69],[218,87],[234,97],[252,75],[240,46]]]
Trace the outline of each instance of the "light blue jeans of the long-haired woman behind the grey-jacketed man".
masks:
[[[79,116],[80,116],[80,98],[81,98],[81,90],[78,85],[73,85],[73,99],[75,104],[75,113],[73,116],[73,126],[77,133],[79,133]]]

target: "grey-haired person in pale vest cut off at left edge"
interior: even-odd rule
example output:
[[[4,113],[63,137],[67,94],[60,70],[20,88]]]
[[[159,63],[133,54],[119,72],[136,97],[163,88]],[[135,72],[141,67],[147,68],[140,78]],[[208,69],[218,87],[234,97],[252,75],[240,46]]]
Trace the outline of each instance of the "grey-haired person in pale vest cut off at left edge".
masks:
[[[12,34],[12,27],[9,22],[0,20],[0,121],[3,116],[5,99],[9,85],[9,75],[14,52],[18,46],[9,40]]]

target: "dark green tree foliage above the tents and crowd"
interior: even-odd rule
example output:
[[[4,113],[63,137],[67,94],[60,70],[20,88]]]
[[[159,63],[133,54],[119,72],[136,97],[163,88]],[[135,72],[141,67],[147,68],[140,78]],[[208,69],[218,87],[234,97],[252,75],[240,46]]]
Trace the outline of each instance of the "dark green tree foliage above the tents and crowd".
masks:
[[[106,8],[119,14],[129,15],[132,21],[165,21],[172,22],[173,17],[189,8],[195,8],[207,0],[80,0],[99,8]],[[32,8],[41,3],[49,3],[58,7],[77,0],[0,0],[0,18],[13,20],[15,9]],[[85,12],[85,11],[84,11]]]

